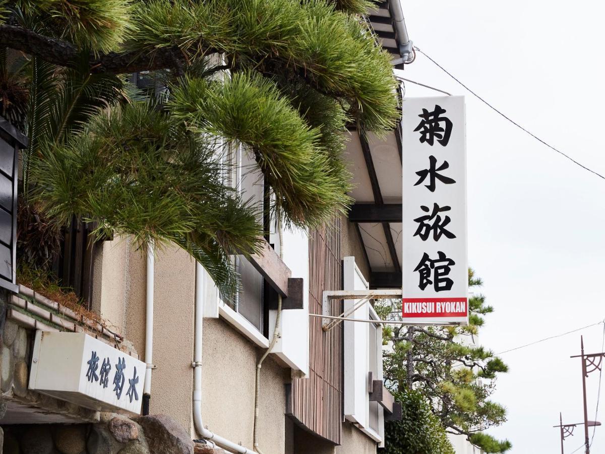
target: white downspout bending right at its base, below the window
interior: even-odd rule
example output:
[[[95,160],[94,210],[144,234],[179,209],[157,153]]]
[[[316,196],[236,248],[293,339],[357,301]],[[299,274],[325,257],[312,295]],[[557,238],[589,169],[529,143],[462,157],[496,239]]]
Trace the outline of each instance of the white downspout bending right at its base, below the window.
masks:
[[[193,421],[195,430],[205,439],[227,451],[242,454],[253,454],[253,451],[240,444],[210,432],[204,427],[201,419],[201,361],[202,361],[202,332],[204,326],[204,268],[195,262],[195,334],[193,363]]]

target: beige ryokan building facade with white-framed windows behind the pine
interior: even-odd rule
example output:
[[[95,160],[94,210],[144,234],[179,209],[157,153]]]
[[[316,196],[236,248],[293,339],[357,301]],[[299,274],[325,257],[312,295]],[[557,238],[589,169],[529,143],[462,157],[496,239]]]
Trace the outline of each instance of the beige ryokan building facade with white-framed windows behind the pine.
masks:
[[[411,42],[399,1],[370,21],[402,67]],[[401,132],[348,134],[355,206],[312,231],[276,225],[253,157],[225,147],[224,178],[267,230],[261,254],[233,257],[241,289],[229,300],[183,249],[93,242],[74,220],[54,269],[86,308],[22,285],[0,292],[2,452],[376,453],[385,419],[397,418],[381,324],[369,301],[326,308],[322,293],[401,287],[401,219],[371,215],[401,206]],[[260,364],[278,294],[279,337]],[[325,329],[322,314],[376,323]]]

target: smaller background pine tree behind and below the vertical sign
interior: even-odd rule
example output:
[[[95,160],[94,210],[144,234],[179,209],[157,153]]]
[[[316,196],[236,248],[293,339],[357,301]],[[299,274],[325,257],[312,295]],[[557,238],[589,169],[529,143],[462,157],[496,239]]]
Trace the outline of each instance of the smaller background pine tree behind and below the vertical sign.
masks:
[[[482,285],[471,269],[468,279],[471,288]],[[393,317],[401,314],[401,301],[377,304],[376,309],[381,317]],[[447,432],[465,435],[486,452],[505,452],[510,443],[497,442],[483,430],[506,421],[505,408],[489,397],[497,374],[508,366],[474,342],[483,316],[493,310],[483,295],[473,294],[468,326],[385,327],[383,337],[391,348],[384,355],[384,375],[394,392],[422,393]]]

